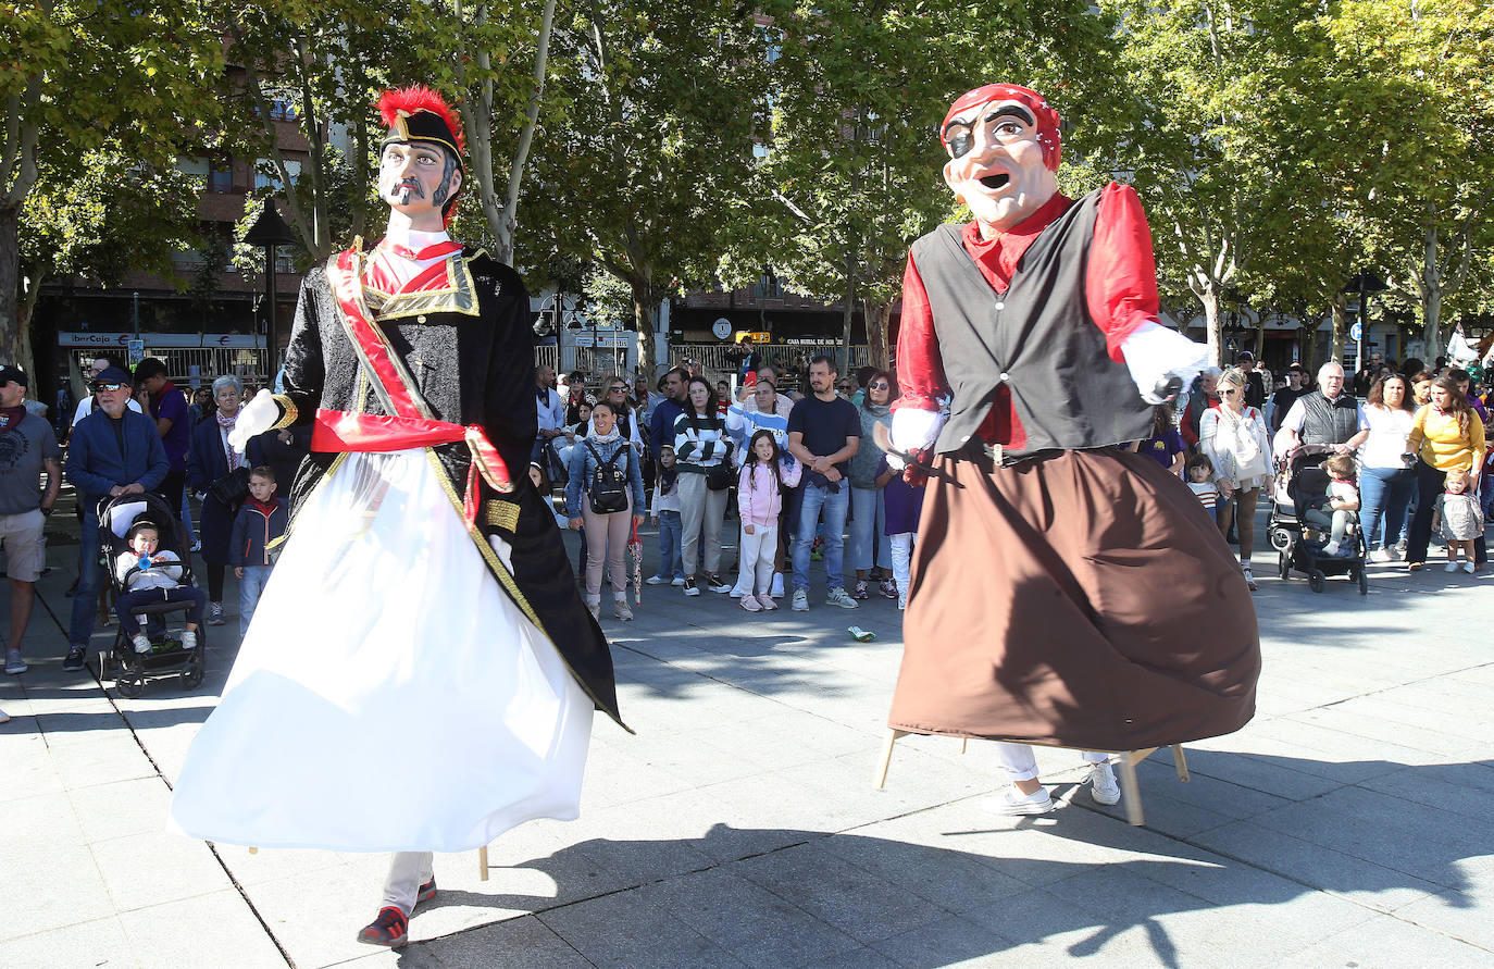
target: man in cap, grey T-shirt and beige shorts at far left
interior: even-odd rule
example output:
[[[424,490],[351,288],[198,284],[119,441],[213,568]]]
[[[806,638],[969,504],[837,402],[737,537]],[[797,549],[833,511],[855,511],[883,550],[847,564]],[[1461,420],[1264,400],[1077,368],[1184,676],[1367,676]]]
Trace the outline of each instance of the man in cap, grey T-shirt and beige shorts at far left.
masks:
[[[10,640],[6,643],[4,671],[25,673],[21,637],[31,619],[36,580],[46,567],[42,526],[57,502],[63,485],[58,464],[61,447],[46,419],[25,407],[30,386],[15,366],[0,366],[0,549],[4,549],[6,576],[10,579]],[[42,473],[46,490],[37,490]]]

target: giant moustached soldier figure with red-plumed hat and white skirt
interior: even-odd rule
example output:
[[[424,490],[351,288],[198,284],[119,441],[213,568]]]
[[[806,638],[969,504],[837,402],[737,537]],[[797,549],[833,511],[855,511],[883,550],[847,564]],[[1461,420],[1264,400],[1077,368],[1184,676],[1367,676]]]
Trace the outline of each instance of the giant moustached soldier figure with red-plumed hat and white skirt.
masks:
[[[577,816],[592,712],[619,712],[526,474],[529,295],[445,232],[465,169],[441,96],[378,106],[384,239],[306,274],[284,395],[261,390],[229,437],[309,426],[311,455],[172,818],[214,842],[394,852],[359,941],[397,948],[436,893],[432,852]]]

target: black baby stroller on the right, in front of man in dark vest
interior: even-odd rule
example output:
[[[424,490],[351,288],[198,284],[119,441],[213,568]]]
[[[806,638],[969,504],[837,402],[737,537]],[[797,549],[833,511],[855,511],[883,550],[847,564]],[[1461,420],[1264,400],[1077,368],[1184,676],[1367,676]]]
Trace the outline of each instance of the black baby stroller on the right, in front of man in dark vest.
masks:
[[[1279,556],[1277,574],[1285,582],[1292,571],[1306,573],[1313,592],[1322,592],[1330,576],[1345,576],[1358,582],[1360,595],[1369,595],[1364,534],[1358,519],[1352,519],[1345,529],[1339,555],[1324,553],[1328,534],[1306,519],[1309,508],[1328,510],[1330,479],[1322,462],[1331,455],[1331,447],[1298,447],[1277,468],[1271,513],[1265,523],[1271,547]]]

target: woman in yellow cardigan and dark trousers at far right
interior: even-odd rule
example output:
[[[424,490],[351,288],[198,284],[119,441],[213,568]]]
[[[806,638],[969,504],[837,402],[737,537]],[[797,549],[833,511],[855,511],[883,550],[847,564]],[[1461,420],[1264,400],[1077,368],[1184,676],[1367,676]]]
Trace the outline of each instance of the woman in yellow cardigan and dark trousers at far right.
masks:
[[[1466,476],[1469,490],[1476,490],[1479,470],[1484,467],[1484,422],[1469,407],[1452,378],[1439,377],[1433,381],[1431,399],[1416,410],[1406,447],[1416,455],[1416,513],[1406,538],[1406,567],[1416,571],[1427,562],[1431,511],[1437,495],[1446,487],[1448,476]],[[1485,561],[1488,549],[1479,537],[1473,543],[1475,568]]]

